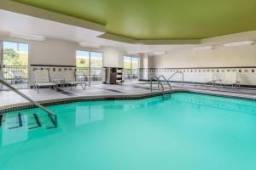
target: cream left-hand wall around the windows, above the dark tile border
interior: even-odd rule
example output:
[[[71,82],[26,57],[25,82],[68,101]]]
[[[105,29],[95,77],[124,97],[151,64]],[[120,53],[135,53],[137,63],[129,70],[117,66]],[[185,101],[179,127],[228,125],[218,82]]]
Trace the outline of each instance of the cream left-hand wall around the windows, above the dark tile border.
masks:
[[[1,31],[0,41],[28,43],[30,65],[76,65],[75,50],[88,50],[103,53],[103,66],[123,67],[125,51],[117,48],[82,48],[77,42],[51,38],[47,38],[43,42],[26,41],[9,37],[7,32]]]

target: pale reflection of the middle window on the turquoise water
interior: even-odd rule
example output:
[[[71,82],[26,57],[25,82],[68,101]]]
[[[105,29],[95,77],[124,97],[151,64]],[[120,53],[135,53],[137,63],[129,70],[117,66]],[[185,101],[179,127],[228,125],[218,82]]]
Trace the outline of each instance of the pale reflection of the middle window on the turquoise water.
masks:
[[[76,126],[89,122],[98,122],[104,119],[102,105],[88,105],[76,107]]]

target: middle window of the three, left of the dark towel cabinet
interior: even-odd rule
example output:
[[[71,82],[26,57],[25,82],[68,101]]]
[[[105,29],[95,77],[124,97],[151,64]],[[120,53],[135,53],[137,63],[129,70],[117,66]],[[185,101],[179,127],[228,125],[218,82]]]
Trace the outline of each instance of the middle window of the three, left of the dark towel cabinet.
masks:
[[[78,71],[84,71],[89,83],[102,82],[102,56],[100,52],[76,51]]]

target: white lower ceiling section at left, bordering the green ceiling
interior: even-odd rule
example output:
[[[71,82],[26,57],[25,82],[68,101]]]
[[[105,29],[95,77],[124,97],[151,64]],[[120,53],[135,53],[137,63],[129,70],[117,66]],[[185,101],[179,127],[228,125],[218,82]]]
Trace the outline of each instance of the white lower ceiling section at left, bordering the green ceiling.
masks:
[[[31,34],[49,38],[57,38],[71,42],[90,42],[101,46],[121,48],[135,53],[149,53],[156,51],[172,51],[183,48],[195,47],[195,45],[142,45],[116,42],[102,39],[102,31],[93,31],[78,26],[70,26],[51,20],[43,20],[25,14],[0,10],[0,31],[8,31],[22,34]]]

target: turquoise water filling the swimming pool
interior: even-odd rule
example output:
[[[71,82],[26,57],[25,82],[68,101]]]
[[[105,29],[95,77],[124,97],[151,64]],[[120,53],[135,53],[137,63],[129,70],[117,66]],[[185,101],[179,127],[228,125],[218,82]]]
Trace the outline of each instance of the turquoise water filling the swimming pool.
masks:
[[[256,102],[200,94],[12,112],[1,170],[255,170]],[[19,127],[17,113],[21,113]],[[36,127],[33,114],[42,127]],[[16,127],[16,128],[11,128]]]

